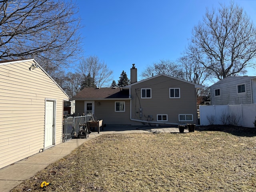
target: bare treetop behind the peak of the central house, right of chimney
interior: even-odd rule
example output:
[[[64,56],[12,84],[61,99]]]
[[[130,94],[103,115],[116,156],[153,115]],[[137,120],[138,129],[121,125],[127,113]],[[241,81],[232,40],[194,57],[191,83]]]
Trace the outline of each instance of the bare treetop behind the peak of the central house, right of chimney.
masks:
[[[146,70],[142,71],[141,77],[146,79],[158,74],[184,79],[182,68],[170,60],[160,60],[160,62],[154,63],[152,66],[147,66]]]

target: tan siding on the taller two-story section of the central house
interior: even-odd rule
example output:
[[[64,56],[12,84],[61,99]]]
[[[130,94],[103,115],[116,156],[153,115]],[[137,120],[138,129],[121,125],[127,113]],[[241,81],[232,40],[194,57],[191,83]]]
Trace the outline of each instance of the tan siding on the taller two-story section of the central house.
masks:
[[[141,88],[151,88],[152,98],[141,98]],[[180,88],[180,98],[170,98],[169,88]],[[138,120],[157,121],[157,114],[167,114],[170,123],[179,122],[178,114],[193,114],[193,122],[197,123],[196,89],[194,84],[183,82],[167,76],[159,76],[135,84],[131,88],[132,118]],[[142,108],[142,118],[140,118]]]

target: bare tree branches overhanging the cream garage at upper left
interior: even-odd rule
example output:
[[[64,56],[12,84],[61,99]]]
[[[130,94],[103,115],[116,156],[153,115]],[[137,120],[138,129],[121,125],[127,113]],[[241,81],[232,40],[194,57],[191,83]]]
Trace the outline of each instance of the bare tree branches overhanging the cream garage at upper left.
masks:
[[[35,58],[50,75],[62,72],[81,52],[76,14],[71,1],[2,0],[0,59]]]

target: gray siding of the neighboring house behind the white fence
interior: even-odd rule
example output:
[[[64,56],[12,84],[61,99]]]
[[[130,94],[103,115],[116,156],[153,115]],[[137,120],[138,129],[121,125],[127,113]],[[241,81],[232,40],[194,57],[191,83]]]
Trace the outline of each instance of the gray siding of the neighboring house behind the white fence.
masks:
[[[245,93],[237,93],[237,85],[245,84]],[[220,89],[220,96],[215,96],[214,90]],[[224,80],[211,86],[212,105],[236,105],[251,104],[252,92],[251,82],[248,77],[225,78]]]

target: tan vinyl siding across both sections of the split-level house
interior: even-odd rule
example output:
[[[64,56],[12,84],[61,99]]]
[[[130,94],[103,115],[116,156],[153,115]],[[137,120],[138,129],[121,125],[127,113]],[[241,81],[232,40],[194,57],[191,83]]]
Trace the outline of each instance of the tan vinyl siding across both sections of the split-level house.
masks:
[[[151,89],[151,98],[141,98],[141,88]],[[180,88],[180,98],[170,98],[169,88]],[[157,114],[166,114],[168,123],[196,123],[196,88],[195,84],[170,78],[169,76],[158,76],[131,85],[131,100],[94,100],[94,115],[97,119],[103,119],[108,125],[143,125],[144,121],[157,121]],[[86,100],[86,99],[85,99]],[[115,112],[115,102],[125,101],[125,112]],[[130,102],[132,110],[130,111]],[[142,117],[140,117],[142,108]],[[76,114],[84,113],[84,100],[76,100]],[[130,114],[132,119],[130,120]],[[193,115],[193,121],[179,121],[179,114]],[[152,118],[148,117],[152,116]],[[145,124],[145,123],[144,123]],[[160,124],[160,122],[159,122]]]

